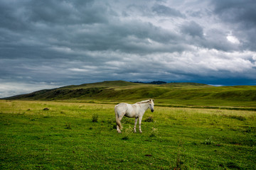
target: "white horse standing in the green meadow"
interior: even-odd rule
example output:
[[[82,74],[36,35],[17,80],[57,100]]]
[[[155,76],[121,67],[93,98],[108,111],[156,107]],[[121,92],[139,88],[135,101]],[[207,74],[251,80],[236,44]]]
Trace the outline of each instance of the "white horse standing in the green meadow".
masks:
[[[128,118],[135,118],[134,132],[136,132],[136,124],[139,118],[139,132],[142,132],[142,117],[148,108],[151,109],[151,112],[154,112],[154,100],[149,99],[147,101],[140,101],[134,104],[119,103],[117,106],[114,106],[114,113],[117,121],[117,132],[121,132],[121,120],[124,115]]]

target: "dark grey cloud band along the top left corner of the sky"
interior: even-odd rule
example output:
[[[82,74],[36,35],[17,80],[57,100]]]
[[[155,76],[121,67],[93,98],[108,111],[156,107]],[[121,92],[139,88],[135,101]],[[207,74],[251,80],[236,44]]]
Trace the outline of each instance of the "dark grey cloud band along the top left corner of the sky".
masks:
[[[2,26],[21,29],[36,23],[67,26],[102,23],[107,9],[93,1],[1,1]]]

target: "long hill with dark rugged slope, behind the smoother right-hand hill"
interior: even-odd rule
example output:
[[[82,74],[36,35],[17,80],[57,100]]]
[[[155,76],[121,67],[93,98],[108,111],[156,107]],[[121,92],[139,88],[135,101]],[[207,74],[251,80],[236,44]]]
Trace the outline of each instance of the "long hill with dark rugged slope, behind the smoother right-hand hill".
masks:
[[[67,99],[141,99],[166,96],[174,89],[198,89],[200,86],[210,87],[206,84],[139,84],[127,81],[103,81],[78,86],[63,86],[58,89],[35,91],[31,94],[11,96],[11,100],[67,100]]]

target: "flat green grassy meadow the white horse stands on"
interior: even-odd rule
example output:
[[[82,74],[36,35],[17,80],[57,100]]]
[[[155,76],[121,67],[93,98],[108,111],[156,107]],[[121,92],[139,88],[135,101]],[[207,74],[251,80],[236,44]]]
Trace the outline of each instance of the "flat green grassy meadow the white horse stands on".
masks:
[[[256,169],[255,111],[155,100],[119,134],[114,104],[0,100],[0,169]]]

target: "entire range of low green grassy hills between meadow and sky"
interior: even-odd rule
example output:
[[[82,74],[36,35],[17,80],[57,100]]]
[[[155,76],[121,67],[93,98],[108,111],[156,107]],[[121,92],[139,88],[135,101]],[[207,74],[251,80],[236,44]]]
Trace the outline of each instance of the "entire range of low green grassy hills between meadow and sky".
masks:
[[[12,96],[11,100],[140,101],[154,98],[161,106],[256,107],[256,86],[209,86],[196,83],[137,84],[103,81]]]

